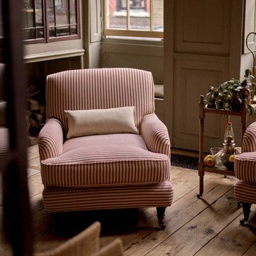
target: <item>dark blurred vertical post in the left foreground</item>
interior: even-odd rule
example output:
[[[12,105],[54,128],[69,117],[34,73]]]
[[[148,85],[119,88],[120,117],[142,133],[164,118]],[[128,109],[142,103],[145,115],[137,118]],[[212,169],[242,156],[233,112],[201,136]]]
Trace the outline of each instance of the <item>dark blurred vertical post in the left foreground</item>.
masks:
[[[5,232],[13,255],[32,255],[31,222],[26,170],[26,76],[22,46],[22,1],[4,0],[5,92],[10,152],[3,173]]]

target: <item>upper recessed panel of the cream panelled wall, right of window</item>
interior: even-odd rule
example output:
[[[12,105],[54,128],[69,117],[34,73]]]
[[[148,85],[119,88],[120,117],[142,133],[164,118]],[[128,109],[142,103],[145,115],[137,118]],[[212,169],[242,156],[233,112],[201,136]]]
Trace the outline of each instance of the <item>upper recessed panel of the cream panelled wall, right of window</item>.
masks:
[[[229,54],[231,0],[174,2],[174,51]]]

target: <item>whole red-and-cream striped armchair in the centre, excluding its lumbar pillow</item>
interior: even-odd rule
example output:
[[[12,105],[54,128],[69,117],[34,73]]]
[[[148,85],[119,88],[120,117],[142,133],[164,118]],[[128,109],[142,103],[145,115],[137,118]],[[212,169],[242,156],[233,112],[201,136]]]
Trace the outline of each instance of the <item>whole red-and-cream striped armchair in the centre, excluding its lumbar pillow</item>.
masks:
[[[65,110],[134,106],[140,134],[67,139]],[[47,121],[39,136],[48,212],[157,207],[164,228],[172,204],[170,139],[154,113],[152,74],[131,68],[69,70],[47,77]]]

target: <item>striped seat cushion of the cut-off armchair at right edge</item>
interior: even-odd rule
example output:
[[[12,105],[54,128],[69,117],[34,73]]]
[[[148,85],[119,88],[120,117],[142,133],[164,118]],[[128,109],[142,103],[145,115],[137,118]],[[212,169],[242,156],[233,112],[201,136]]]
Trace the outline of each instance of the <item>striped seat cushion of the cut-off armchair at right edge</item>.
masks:
[[[246,152],[236,156],[235,173],[240,180],[256,182],[256,152]]]

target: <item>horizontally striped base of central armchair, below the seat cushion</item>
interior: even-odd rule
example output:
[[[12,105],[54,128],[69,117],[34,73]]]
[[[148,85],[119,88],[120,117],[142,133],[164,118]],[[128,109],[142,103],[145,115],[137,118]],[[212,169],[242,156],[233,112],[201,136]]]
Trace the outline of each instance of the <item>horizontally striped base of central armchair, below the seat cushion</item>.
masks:
[[[83,211],[92,209],[120,209],[169,206],[173,188],[169,181],[130,186],[61,188],[47,186],[43,192],[48,212]]]

